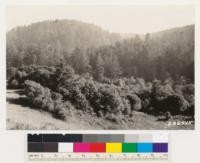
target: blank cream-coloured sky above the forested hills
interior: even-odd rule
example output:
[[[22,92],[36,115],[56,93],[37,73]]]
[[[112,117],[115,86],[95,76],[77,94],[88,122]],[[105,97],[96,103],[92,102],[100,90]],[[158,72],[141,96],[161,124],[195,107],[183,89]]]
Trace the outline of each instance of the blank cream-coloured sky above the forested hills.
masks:
[[[10,5],[6,9],[6,30],[34,22],[75,19],[110,32],[145,34],[194,24],[192,5]]]

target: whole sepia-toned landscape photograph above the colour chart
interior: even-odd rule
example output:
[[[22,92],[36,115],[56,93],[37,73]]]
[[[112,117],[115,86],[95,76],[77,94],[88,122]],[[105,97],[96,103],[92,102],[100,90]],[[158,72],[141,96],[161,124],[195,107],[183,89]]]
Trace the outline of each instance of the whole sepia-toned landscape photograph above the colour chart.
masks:
[[[7,130],[194,130],[193,5],[8,5]]]

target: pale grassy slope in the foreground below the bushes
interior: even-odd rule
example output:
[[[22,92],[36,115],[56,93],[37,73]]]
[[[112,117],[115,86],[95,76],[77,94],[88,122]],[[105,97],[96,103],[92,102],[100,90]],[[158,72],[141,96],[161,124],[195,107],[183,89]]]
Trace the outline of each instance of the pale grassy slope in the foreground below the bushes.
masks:
[[[19,90],[7,91],[7,129],[21,130],[102,130],[102,129],[134,129],[134,130],[165,130],[165,129],[194,129],[191,126],[168,126],[167,122],[158,121],[157,117],[135,112],[134,121],[128,124],[116,124],[105,119],[89,115],[76,114],[69,116],[67,121],[52,117],[48,112],[32,109],[23,104],[23,95]]]

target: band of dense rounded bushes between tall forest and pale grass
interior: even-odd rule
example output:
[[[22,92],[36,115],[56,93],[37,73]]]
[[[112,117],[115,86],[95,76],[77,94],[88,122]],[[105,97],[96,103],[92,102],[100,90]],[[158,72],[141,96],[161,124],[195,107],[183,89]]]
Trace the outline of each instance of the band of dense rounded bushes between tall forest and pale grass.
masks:
[[[22,66],[7,70],[9,88],[25,88],[32,105],[65,119],[69,108],[99,117],[127,118],[134,111],[149,114],[194,115],[194,84],[145,82],[142,78],[104,78],[77,75],[70,66]],[[68,109],[67,109],[68,108]]]

